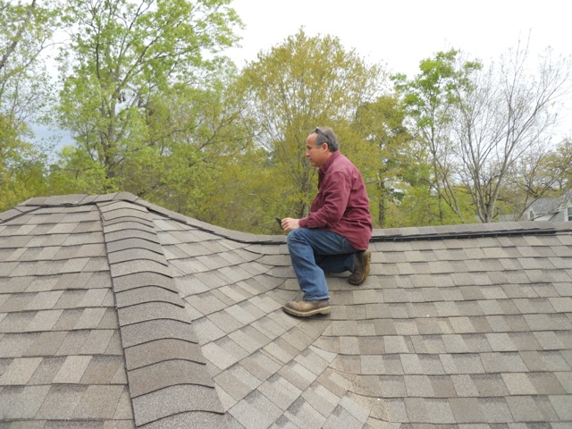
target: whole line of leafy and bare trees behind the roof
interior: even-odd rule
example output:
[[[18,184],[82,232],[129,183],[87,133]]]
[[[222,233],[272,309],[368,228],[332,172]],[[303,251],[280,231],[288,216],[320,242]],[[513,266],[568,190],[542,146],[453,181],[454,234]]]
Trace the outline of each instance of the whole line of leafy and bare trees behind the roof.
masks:
[[[230,3],[0,0],[0,210],[127,190],[233,230],[282,233],[274,216],[306,215],[315,196],[304,147],[317,125],[362,172],[376,227],[491,222],[572,186],[570,139],[543,147],[566,63],[547,55],[528,75],[519,48],[494,76],[451,49],[387,88],[383,68],[300,29],[237,75],[219,56],[240,26]],[[62,23],[50,108],[42,54]],[[46,168],[30,123],[54,116],[74,143]]]

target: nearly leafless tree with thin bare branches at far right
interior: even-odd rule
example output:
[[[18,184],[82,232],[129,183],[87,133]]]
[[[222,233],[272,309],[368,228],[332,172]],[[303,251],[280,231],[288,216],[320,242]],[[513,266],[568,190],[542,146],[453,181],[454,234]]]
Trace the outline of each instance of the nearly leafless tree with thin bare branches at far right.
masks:
[[[520,183],[529,188],[529,197],[539,198],[551,187],[550,182],[534,182],[560,101],[570,91],[570,62],[553,58],[548,49],[535,71],[531,65],[527,46],[519,45],[501,57],[500,67],[475,71],[467,77],[468,85],[455,87],[460,179],[484,223],[497,218],[497,200],[511,170],[522,172]]]

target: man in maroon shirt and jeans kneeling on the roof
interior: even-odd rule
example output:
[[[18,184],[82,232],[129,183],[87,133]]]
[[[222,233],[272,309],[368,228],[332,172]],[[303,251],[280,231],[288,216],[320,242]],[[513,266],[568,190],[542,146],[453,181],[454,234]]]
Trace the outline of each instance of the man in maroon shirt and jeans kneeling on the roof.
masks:
[[[324,273],[349,271],[349,283],[360,285],[369,274],[372,215],[359,170],[340,153],[340,143],[329,127],[307,136],[306,157],[318,169],[318,191],[310,214],[282,219],[290,259],[303,298],[289,301],[290,315],[326,315],[332,311]]]

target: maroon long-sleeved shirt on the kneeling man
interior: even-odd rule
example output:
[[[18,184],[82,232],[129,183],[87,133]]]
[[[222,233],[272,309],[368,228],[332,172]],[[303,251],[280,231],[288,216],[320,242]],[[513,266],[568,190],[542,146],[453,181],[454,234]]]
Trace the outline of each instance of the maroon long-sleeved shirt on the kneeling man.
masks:
[[[372,237],[372,214],[366,185],[354,164],[340,151],[332,153],[318,170],[318,193],[302,228],[334,231],[357,250],[366,250]]]

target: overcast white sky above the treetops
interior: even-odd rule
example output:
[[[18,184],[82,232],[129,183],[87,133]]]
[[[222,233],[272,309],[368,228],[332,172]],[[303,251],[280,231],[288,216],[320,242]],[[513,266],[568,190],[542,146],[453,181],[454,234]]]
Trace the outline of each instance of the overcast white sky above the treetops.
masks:
[[[233,0],[246,28],[240,48],[227,55],[239,67],[255,61],[300,28],[308,36],[340,38],[371,63],[412,78],[419,63],[438,51],[460,49],[484,63],[529,40],[536,55],[547,46],[572,55],[567,0]],[[530,36],[530,38],[529,38]],[[567,111],[572,107],[568,98]],[[572,113],[561,125],[572,133]]]

